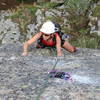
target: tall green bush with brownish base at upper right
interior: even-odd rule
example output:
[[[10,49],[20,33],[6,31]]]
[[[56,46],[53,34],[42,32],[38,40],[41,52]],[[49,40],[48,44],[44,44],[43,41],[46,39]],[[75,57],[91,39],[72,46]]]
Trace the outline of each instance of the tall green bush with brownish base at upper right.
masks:
[[[80,29],[88,27],[90,3],[91,0],[67,0],[65,2],[66,11],[69,13],[68,23],[73,32],[79,33]]]

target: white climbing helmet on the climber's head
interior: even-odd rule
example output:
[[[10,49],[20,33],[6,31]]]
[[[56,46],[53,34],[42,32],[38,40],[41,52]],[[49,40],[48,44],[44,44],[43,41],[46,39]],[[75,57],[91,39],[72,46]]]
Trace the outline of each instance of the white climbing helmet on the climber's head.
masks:
[[[53,22],[47,21],[42,25],[40,31],[45,34],[52,34],[56,32],[56,28]]]

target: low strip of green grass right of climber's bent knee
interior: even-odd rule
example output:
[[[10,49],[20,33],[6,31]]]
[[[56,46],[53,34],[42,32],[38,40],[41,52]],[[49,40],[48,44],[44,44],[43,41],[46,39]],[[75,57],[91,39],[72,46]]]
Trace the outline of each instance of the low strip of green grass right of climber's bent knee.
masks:
[[[91,49],[99,49],[100,48],[100,37],[99,36],[79,36],[77,38],[72,38],[70,41],[76,47],[81,48],[91,48]]]

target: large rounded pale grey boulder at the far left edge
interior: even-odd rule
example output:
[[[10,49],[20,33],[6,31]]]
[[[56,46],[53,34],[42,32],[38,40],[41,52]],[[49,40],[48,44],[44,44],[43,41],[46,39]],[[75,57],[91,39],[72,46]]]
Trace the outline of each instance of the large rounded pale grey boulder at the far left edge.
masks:
[[[2,43],[17,42],[20,37],[18,25],[10,19],[0,21],[0,39]]]

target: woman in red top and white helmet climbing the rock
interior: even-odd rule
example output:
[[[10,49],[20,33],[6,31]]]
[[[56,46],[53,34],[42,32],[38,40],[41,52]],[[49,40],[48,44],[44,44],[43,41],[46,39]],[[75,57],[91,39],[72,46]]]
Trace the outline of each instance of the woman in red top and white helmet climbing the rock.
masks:
[[[45,22],[42,25],[40,32],[24,43],[23,56],[28,55],[28,47],[35,41],[37,41],[37,48],[55,47],[57,49],[57,56],[62,56],[61,48],[64,48],[69,52],[75,52],[76,48],[68,41],[65,41],[62,36],[59,34],[59,28],[54,22]]]

